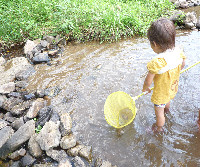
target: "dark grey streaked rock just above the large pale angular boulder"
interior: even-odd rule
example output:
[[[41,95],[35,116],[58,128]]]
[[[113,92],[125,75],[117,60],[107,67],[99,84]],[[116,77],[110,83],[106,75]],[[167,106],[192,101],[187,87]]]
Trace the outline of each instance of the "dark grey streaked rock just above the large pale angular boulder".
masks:
[[[53,110],[52,110],[52,108],[50,106],[49,107],[41,108],[39,110],[39,112],[38,112],[38,120],[36,122],[36,127],[38,125],[44,126],[45,123],[50,120],[52,112],[53,112]]]

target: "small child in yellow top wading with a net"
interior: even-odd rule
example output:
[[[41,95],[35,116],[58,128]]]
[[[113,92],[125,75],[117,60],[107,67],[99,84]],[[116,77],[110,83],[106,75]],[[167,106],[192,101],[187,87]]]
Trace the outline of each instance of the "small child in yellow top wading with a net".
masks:
[[[175,36],[174,24],[166,18],[153,22],[147,33],[151,48],[158,54],[147,64],[148,74],[142,90],[150,93],[149,87],[154,81],[151,97],[156,114],[154,131],[163,130],[164,112],[169,111],[170,100],[178,91],[180,71],[185,65],[183,51],[175,47]]]

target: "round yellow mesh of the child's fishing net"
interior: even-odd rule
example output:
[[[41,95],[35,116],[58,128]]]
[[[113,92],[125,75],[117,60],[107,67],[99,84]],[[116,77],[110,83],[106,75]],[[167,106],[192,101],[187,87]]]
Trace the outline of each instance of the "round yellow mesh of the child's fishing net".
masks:
[[[109,125],[122,128],[130,124],[136,115],[135,101],[125,92],[110,94],[104,105],[105,119]]]

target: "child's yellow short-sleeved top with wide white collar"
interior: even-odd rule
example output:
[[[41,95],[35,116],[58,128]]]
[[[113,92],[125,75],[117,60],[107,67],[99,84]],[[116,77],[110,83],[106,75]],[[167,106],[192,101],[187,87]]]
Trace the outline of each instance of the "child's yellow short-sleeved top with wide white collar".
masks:
[[[186,57],[180,49],[158,54],[148,64],[147,69],[155,74],[151,101],[154,104],[166,104],[178,91],[179,76],[183,59]]]

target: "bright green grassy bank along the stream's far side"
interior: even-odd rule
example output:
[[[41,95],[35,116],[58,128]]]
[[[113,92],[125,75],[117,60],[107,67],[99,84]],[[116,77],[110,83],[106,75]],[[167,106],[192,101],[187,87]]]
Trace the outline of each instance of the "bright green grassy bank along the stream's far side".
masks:
[[[63,34],[72,40],[143,35],[167,14],[168,0],[0,0],[1,42]]]

